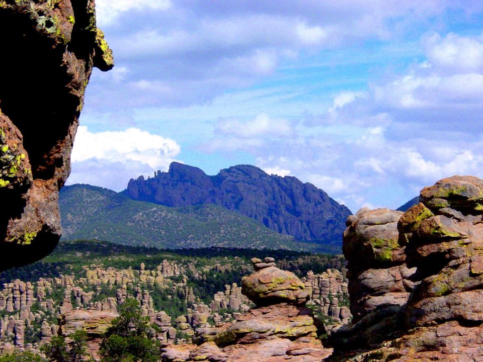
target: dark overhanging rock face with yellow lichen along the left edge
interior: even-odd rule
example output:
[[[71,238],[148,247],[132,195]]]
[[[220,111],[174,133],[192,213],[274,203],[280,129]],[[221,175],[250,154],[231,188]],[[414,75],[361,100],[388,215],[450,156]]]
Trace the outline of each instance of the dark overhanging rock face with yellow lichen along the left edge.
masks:
[[[93,66],[112,52],[93,0],[0,0],[0,270],[47,255]]]

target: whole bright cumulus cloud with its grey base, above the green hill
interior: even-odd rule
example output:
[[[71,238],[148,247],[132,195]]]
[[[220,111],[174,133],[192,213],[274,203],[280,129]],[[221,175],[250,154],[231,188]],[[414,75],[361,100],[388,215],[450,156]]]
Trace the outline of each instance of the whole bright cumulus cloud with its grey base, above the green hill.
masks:
[[[130,178],[167,170],[180,151],[176,141],[137,128],[94,133],[80,126],[68,184],[83,182],[119,191]]]

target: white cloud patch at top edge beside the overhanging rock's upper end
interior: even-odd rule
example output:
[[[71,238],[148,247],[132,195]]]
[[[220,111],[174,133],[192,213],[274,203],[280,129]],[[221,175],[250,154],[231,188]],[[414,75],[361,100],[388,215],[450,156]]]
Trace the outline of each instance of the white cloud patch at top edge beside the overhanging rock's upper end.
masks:
[[[146,9],[167,10],[171,6],[170,0],[97,0],[97,22],[99,26],[111,25],[123,12]]]

